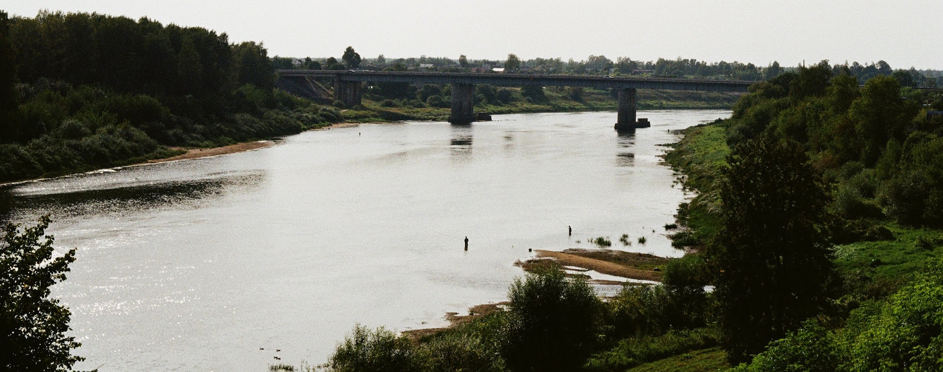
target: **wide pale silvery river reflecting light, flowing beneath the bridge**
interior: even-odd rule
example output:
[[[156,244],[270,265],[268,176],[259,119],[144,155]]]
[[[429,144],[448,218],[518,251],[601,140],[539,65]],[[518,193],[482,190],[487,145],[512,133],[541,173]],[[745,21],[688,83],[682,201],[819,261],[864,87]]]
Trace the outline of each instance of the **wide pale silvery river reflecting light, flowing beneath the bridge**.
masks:
[[[653,126],[623,136],[612,112],[359,124],[8,186],[0,218],[51,213],[58,254],[77,248],[54,287],[88,358],[76,368],[322,364],[357,323],[443,326],[446,312],[504,300],[528,249],[610,236],[682,255],[663,226],[688,195],[661,144],[729,115],[639,111]]]

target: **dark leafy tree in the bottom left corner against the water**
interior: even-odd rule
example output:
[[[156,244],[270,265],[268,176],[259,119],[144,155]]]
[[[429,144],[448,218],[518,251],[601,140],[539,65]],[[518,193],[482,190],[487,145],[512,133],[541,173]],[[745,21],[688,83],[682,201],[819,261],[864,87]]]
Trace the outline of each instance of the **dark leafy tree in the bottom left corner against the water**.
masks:
[[[65,280],[75,250],[53,258],[49,217],[21,232],[8,223],[0,241],[0,365],[6,371],[66,371],[83,358],[69,331],[69,309],[51,299],[50,287]]]

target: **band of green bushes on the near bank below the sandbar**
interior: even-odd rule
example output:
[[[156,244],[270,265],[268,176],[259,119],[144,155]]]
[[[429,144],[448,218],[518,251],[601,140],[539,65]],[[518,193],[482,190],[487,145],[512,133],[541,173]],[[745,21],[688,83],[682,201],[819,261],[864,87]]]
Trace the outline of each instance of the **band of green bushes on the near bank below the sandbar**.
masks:
[[[709,297],[703,282],[690,269],[666,269],[670,284],[626,285],[604,302],[584,279],[542,267],[511,285],[507,311],[415,343],[358,326],[325,367],[380,370],[371,369],[379,368],[372,361],[387,361],[403,370],[443,372],[614,370],[716,345],[717,331],[704,328]]]

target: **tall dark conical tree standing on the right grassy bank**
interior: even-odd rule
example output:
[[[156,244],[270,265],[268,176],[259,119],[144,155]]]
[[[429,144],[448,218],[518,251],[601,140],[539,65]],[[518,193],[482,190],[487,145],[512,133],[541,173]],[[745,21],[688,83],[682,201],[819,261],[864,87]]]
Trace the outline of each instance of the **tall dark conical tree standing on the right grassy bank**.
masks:
[[[834,268],[819,231],[828,193],[801,145],[760,137],[737,145],[727,162],[710,257],[724,346],[737,364],[819,314]]]

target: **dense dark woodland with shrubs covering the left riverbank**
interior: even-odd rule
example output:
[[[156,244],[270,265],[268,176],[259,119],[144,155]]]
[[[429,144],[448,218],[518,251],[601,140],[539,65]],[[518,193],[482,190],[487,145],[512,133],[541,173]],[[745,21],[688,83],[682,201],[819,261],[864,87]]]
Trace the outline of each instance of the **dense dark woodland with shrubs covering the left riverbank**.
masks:
[[[0,181],[110,167],[339,120],[273,89],[264,46],[141,18],[0,13]]]

